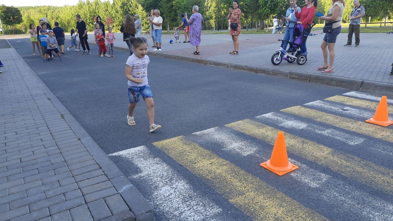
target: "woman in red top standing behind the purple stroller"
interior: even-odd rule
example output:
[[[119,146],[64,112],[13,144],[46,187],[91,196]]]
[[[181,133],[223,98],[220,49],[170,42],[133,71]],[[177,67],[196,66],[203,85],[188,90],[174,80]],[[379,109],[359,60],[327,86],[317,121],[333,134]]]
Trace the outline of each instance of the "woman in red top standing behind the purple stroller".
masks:
[[[298,18],[300,21],[298,21],[298,24],[303,24],[304,27],[304,34],[310,33],[309,31],[306,31],[306,29],[309,27],[309,24],[312,24],[312,18],[314,18],[315,15],[315,9],[317,7],[317,0],[305,0],[306,6],[304,6],[300,13],[298,13],[298,6],[295,6],[295,16]],[[314,3],[314,6],[313,6]],[[303,39],[303,43],[300,46],[300,52],[304,55],[306,55],[307,58],[307,48],[306,48],[306,41],[307,41],[307,36]]]

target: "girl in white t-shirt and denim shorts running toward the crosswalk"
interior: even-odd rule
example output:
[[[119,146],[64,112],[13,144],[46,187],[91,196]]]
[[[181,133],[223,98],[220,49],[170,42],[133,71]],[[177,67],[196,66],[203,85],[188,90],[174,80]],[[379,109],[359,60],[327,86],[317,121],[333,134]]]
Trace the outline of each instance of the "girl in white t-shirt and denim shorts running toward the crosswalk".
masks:
[[[154,101],[151,88],[147,82],[147,64],[150,59],[147,56],[147,40],[144,37],[130,38],[133,44],[134,53],[127,59],[125,66],[125,76],[128,79],[128,115],[127,123],[135,125],[134,109],[139,101],[139,96],[145,100],[147,105],[147,116],[149,118],[150,133],[161,129],[161,126],[154,124]]]

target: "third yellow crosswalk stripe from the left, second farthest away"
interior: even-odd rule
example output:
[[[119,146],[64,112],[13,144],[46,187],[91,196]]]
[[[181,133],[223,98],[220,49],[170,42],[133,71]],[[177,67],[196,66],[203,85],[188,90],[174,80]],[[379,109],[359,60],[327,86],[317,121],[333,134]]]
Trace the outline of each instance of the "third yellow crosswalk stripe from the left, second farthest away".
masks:
[[[375,137],[388,142],[393,142],[393,130],[389,127],[381,127],[371,123],[361,122],[348,118],[328,114],[319,110],[309,109],[307,107],[295,106],[281,110],[286,113],[296,114],[305,118],[310,118],[318,122],[327,123],[335,127],[340,127],[367,136]]]

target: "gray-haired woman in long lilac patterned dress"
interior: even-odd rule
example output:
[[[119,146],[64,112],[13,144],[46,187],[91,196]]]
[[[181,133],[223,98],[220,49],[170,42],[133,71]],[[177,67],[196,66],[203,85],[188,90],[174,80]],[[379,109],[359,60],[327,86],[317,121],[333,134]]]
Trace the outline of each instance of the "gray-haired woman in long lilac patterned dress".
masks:
[[[193,14],[190,19],[185,17],[187,23],[190,24],[190,41],[191,45],[196,47],[195,55],[199,55],[200,33],[202,32],[203,17],[198,13],[199,7],[193,6]]]

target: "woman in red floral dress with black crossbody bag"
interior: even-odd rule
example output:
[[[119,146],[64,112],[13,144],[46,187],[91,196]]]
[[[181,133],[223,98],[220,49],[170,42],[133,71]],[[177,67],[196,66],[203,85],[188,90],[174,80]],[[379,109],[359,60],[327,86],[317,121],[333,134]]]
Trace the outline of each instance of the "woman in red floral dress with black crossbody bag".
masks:
[[[229,33],[232,36],[233,41],[233,51],[230,54],[237,55],[239,54],[239,35],[240,35],[240,17],[242,12],[239,8],[239,1],[233,1],[233,9],[229,8],[229,15],[226,17],[230,21],[230,23],[237,23],[237,29],[229,29]]]

